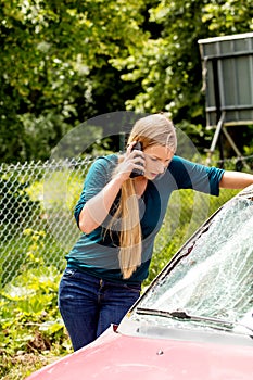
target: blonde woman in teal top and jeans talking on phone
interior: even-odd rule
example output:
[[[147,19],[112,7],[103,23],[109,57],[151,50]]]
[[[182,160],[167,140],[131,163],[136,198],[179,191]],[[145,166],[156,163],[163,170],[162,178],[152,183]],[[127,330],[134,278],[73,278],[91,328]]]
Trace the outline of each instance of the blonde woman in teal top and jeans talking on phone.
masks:
[[[134,148],[141,143],[141,151]],[[253,176],[193,164],[175,155],[173,123],[163,114],[134,125],[125,154],[94,161],[75,208],[84,232],[66,256],[59,306],[74,350],[118,325],[148,277],[153,243],[174,190],[218,195]],[[132,170],[141,175],[132,177]]]

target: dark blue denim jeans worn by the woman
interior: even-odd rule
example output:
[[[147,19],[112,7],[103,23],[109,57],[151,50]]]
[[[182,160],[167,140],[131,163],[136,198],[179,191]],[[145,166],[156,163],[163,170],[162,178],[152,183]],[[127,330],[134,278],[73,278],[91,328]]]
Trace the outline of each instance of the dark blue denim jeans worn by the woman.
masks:
[[[118,325],[138,300],[140,289],[141,283],[110,282],[66,268],[59,288],[59,308],[73,349],[92,342],[111,324]]]

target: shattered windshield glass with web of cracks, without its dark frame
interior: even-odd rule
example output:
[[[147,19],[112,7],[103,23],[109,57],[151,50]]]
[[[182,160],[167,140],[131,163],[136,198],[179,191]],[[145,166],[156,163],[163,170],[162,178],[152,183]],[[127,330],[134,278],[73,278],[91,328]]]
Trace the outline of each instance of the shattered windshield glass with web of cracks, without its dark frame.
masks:
[[[228,203],[185,251],[191,252],[150,288],[138,307],[182,309],[190,315],[242,321],[253,328],[252,200],[239,197]],[[134,311],[132,318],[150,316]],[[154,319],[157,321],[159,316]],[[181,324],[173,319],[163,322]],[[194,325],[191,320],[187,324]]]

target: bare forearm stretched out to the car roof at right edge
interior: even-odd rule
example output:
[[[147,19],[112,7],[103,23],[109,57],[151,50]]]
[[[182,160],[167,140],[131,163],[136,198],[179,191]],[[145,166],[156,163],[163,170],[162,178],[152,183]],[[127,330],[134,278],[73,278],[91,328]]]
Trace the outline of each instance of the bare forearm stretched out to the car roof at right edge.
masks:
[[[253,175],[241,172],[224,172],[219,187],[225,189],[244,189],[253,183]]]

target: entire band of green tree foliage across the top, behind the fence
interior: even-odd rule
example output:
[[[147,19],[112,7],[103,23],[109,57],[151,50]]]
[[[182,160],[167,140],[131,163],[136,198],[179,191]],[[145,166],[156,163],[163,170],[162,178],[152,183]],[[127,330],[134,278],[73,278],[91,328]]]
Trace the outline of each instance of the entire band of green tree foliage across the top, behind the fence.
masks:
[[[0,2],[5,162],[46,160],[73,127],[118,110],[167,111],[206,148],[198,40],[253,25],[251,0]]]

